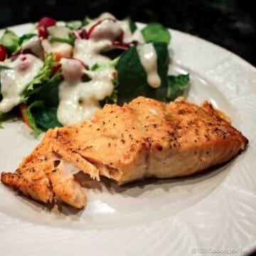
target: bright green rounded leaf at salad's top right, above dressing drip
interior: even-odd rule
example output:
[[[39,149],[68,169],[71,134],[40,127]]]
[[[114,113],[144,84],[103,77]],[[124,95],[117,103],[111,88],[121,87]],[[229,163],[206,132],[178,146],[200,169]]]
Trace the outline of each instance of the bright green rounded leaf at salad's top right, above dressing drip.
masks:
[[[148,23],[144,28],[142,28],[142,35],[146,43],[170,43],[171,41],[170,31],[162,26],[160,23]]]

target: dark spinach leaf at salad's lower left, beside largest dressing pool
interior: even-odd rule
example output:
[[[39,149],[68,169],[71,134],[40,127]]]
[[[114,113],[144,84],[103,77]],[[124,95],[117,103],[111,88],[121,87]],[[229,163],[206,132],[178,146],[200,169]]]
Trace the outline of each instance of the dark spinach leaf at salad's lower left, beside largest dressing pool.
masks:
[[[57,119],[57,107],[46,107],[41,100],[33,102],[26,110],[29,123],[37,134],[54,127],[62,127]]]

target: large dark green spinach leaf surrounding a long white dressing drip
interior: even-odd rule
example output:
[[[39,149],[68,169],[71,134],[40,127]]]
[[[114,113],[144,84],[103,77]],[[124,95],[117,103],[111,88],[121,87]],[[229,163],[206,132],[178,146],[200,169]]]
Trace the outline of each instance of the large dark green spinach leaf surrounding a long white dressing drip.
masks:
[[[137,46],[126,50],[117,62],[118,102],[129,102],[139,95],[156,100],[165,100],[168,90],[167,72],[169,53],[167,43],[153,43],[157,55],[157,71],[161,85],[155,89],[147,82],[146,71],[139,60]]]

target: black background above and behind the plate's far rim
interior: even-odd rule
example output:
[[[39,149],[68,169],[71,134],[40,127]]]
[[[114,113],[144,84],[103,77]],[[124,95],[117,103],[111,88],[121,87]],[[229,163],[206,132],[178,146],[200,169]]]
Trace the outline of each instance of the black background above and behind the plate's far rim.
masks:
[[[0,0],[0,27],[38,21],[82,19],[109,11],[117,18],[158,21],[233,51],[256,65],[255,1],[152,1],[152,0]]]

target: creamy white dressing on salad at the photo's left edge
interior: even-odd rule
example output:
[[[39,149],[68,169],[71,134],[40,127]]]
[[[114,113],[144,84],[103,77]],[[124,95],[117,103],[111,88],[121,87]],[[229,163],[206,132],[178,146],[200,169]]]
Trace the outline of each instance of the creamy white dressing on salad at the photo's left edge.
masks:
[[[31,54],[18,55],[16,60],[4,63],[11,69],[1,70],[0,112],[9,112],[18,105],[20,95],[43,67],[43,61]]]

